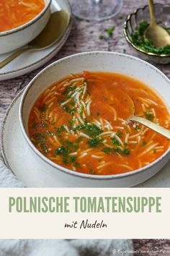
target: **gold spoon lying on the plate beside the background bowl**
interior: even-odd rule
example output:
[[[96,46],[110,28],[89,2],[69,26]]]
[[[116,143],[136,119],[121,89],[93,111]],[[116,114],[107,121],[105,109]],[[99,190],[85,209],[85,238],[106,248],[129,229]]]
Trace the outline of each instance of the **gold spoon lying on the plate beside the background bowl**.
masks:
[[[27,48],[19,49],[11,54],[9,57],[0,62],[0,69],[6,64],[9,64],[13,59],[27,51],[40,51],[42,49],[53,46],[54,43],[61,38],[68,23],[70,21],[70,14],[64,10],[54,12],[50,16],[50,20],[44,30],[34,40],[27,44]]]

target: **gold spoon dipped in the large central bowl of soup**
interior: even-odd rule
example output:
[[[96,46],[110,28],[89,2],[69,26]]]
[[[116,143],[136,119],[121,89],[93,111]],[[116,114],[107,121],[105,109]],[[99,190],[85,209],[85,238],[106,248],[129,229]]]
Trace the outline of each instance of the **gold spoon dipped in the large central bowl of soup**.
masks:
[[[143,124],[146,127],[153,129],[153,131],[158,132],[164,137],[167,137],[168,139],[170,139],[169,129],[161,127],[160,125],[153,123],[153,121],[150,121],[143,117],[135,116],[135,104],[133,102],[133,99],[130,98],[130,95],[128,95],[128,93],[125,93],[125,91],[124,91],[124,94],[126,94],[127,102],[130,107],[130,116],[128,117],[128,121],[135,121],[135,122],[137,121],[138,123]]]

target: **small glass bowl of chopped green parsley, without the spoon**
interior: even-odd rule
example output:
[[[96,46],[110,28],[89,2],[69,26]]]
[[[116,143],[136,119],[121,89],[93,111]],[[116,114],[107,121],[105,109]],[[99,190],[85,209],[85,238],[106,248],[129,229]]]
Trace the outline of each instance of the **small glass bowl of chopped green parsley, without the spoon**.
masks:
[[[156,21],[170,34],[170,4],[154,4],[154,6]],[[149,22],[150,15],[148,5],[135,10],[135,12],[128,15],[128,18],[125,21],[125,38],[142,59],[156,64],[169,64],[170,45],[156,48],[151,40],[144,38],[144,32],[148,27]]]

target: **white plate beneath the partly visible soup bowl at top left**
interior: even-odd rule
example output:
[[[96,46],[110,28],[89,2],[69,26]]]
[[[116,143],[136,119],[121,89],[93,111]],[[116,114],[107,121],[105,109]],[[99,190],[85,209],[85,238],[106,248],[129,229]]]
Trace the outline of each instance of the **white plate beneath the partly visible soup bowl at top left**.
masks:
[[[56,12],[60,9],[64,9],[71,14],[71,8],[67,0],[53,0],[51,12]],[[22,54],[10,64],[6,65],[6,67],[0,69],[0,80],[11,79],[19,77],[22,74],[27,74],[53,58],[66,42],[68,35],[71,32],[71,23],[72,22],[69,23],[61,39],[59,39],[53,46],[42,51],[32,51],[31,53]],[[1,54],[0,61],[4,60],[10,54]]]

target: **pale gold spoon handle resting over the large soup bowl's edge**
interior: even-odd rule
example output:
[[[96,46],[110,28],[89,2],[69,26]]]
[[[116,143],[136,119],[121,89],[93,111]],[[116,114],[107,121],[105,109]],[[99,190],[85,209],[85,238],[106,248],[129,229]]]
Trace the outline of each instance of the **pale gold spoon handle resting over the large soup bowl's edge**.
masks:
[[[169,129],[166,129],[164,127],[161,127],[158,124],[154,124],[152,121],[149,121],[148,119],[144,119],[143,117],[139,116],[132,116],[129,118],[130,121],[138,121],[138,123],[145,125],[148,128],[153,129],[153,131],[160,133],[161,135],[164,135],[168,139],[170,139],[170,131]]]

